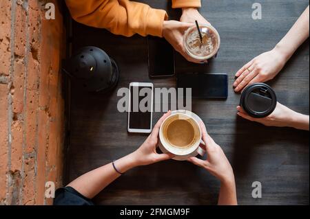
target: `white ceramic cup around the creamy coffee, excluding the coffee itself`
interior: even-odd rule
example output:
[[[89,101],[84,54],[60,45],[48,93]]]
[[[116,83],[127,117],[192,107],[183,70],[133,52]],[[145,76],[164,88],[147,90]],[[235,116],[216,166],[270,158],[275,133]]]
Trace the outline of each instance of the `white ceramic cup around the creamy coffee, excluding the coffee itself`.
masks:
[[[167,123],[167,121],[170,121],[172,117],[177,117],[177,119],[189,119],[191,121],[191,124],[195,126],[194,129],[198,130],[198,133],[196,133],[197,136],[194,137],[195,141],[192,142],[190,146],[186,148],[178,148],[176,146],[172,146],[172,143],[169,143],[169,141],[167,141],[167,139],[164,137],[163,127],[165,127],[165,124]],[[169,115],[169,117],[167,117],[163,121],[163,124],[161,124],[161,128],[159,130],[160,143],[158,144],[158,146],[162,152],[172,153],[176,155],[176,160],[184,161],[188,159],[189,157],[196,157],[198,154],[203,156],[203,154],[205,154],[205,150],[203,150],[203,148],[200,148],[200,143],[203,143],[203,141],[201,140],[201,137],[202,137],[202,134],[201,134],[200,126],[198,122],[196,121],[196,119],[194,119],[194,117],[192,116],[191,112],[187,112],[186,114],[185,113],[174,113],[172,115]]]

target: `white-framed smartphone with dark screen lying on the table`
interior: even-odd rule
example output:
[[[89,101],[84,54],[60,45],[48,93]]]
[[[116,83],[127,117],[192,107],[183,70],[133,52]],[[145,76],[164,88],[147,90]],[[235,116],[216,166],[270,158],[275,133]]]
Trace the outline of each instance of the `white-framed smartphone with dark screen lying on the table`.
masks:
[[[153,84],[130,83],[128,132],[152,132]]]

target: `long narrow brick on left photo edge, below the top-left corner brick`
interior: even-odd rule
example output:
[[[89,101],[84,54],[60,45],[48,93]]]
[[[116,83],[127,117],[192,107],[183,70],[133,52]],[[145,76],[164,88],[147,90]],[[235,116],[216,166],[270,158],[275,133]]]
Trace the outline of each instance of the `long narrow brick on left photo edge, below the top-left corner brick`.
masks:
[[[0,203],[6,198],[8,171],[8,85],[0,84]]]

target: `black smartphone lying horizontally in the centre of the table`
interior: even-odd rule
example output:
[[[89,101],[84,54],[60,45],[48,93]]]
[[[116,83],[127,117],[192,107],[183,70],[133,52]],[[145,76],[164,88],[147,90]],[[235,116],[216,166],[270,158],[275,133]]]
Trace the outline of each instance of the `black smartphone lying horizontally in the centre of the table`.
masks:
[[[192,97],[227,99],[228,76],[222,73],[178,73],[177,86],[192,89]]]

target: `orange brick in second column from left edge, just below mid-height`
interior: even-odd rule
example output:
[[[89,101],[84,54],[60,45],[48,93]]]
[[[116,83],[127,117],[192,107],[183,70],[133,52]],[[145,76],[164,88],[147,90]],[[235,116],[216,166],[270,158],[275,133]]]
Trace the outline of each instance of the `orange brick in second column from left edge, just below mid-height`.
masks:
[[[23,122],[12,122],[12,143],[11,143],[11,167],[12,172],[21,171],[21,162],[23,156]]]

